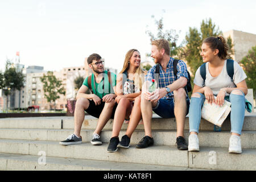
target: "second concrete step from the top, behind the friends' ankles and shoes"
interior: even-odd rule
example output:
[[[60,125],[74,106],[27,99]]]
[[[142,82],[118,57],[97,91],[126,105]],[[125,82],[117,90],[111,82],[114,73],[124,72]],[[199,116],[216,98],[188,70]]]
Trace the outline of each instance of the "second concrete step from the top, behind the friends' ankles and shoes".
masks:
[[[81,136],[83,142],[90,142],[93,134],[92,129],[82,129]],[[0,139],[22,139],[22,140],[49,140],[62,141],[65,140],[73,129],[0,129]],[[125,135],[126,130],[121,130],[119,139]],[[152,135],[156,145],[175,146],[176,130],[153,130]],[[189,131],[184,131],[184,138],[188,144]],[[103,130],[101,132],[101,140],[109,143],[112,137],[112,130]],[[137,144],[144,137],[144,130],[135,130],[131,137],[131,144]],[[201,147],[229,147],[229,131],[201,131],[199,134],[199,142]],[[242,148],[256,149],[256,131],[243,131],[241,135]]]

